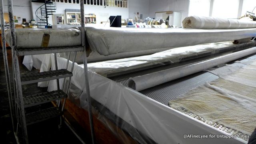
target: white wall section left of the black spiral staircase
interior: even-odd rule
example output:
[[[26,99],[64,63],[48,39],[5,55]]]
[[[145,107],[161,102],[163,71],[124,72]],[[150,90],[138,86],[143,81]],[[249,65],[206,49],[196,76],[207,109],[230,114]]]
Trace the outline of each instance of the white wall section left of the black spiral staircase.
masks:
[[[32,18],[30,0],[12,0],[14,16],[26,18],[27,22]],[[4,0],[4,12],[8,12],[7,0]]]

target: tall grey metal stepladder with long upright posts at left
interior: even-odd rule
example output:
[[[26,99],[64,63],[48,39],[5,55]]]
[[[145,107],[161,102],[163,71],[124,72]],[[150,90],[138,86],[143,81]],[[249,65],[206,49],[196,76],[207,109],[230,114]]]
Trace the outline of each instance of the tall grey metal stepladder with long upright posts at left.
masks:
[[[84,16],[84,0],[80,0],[80,9],[81,9],[81,15]],[[17,143],[20,142],[19,136],[21,135],[22,142],[25,144],[28,144],[28,133],[27,133],[28,125],[62,115],[62,112],[64,110],[64,105],[66,102],[66,98],[67,98],[67,93],[68,93],[69,86],[70,86],[71,77],[73,75],[72,71],[74,68],[74,61],[76,58],[77,51],[83,51],[84,76],[85,76],[87,102],[88,102],[88,113],[89,113],[89,120],[90,120],[92,143],[94,143],[94,127],[93,127],[93,121],[92,121],[92,108],[91,108],[91,100],[90,100],[88,68],[87,68],[87,59],[86,59],[84,17],[82,17],[82,19],[81,19],[81,21],[82,21],[82,24],[81,24],[81,26],[82,26],[82,28],[81,28],[82,29],[81,30],[82,31],[82,46],[19,50],[19,49],[17,49],[17,45],[16,45],[16,33],[15,33],[12,0],[8,0],[8,12],[9,12],[9,18],[10,18],[11,42],[12,42],[12,44],[10,44],[10,46],[12,48],[12,66],[13,66],[13,72],[14,72],[14,75],[13,75],[13,77],[14,77],[14,98],[12,98],[12,95],[11,95],[12,91],[10,89],[11,88],[10,87],[10,78],[9,78],[9,72],[8,72],[8,63],[7,63],[6,47],[5,47],[5,40],[4,40],[4,25],[1,25],[1,28],[2,28],[2,35],[3,35],[2,42],[3,42],[3,52],[4,52],[4,62],[5,62],[4,64],[5,64],[5,70],[6,70],[6,80],[7,80],[7,86],[8,86],[9,104],[10,104],[10,111],[11,111],[11,116],[12,116],[14,135],[16,137]],[[3,22],[4,22],[3,0],[1,0],[1,2],[0,2],[0,16],[1,16],[1,23],[3,24]],[[72,66],[71,66],[71,71],[67,70],[69,58],[66,63],[66,69],[58,70],[56,53],[59,53],[59,52],[69,52],[68,57],[70,57],[70,52],[75,52],[74,60],[72,62]],[[27,74],[20,74],[18,56],[34,55],[34,54],[49,54],[49,53],[54,53],[55,69],[56,70],[52,70],[52,71],[48,71],[48,72],[39,72],[36,74],[30,73],[30,72],[28,72]],[[64,82],[62,84],[62,90],[60,89],[59,80],[58,80],[60,78],[64,78],[64,82],[65,82],[65,78],[69,78],[66,93],[63,92]],[[22,85],[36,83],[36,82],[42,82],[42,81],[48,81],[48,80],[56,80],[58,90],[23,97]],[[61,99],[64,99],[62,108],[60,107]],[[57,102],[58,106],[56,106],[56,107],[51,107],[51,108],[43,109],[43,110],[32,112],[32,113],[25,112],[25,108],[28,108],[31,106],[36,106],[36,105],[54,101],[54,100],[58,100],[58,102]]]

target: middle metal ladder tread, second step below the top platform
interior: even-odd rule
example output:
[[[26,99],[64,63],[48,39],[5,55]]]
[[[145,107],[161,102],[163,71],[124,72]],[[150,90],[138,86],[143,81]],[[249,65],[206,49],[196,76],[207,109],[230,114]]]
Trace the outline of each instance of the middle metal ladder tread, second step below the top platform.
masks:
[[[62,90],[54,90],[52,92],[44,92],[41,94],[34,94],[31,96],[24,96],[24,108],[28,108],[30,106],[36,106],[39,104],[44,104],[46,102],[51,102],[54,100],[60,100],[62,98],[67,98],[67,94]]]

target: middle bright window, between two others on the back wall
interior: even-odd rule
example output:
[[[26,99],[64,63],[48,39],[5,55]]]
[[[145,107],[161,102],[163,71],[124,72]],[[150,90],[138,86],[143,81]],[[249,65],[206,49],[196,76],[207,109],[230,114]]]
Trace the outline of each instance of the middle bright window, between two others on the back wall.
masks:
[[[214,0],[212,17],[237,18],[239,0]]]

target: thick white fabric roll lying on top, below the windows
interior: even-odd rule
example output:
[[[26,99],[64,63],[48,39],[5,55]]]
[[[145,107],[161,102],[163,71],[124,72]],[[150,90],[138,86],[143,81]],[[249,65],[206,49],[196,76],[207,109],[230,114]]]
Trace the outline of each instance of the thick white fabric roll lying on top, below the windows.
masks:
[[[182,25],[184,28],[198,29],[256,28],[255,21],[213,18],[207,16],[187,16],[182,21]]]

